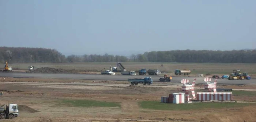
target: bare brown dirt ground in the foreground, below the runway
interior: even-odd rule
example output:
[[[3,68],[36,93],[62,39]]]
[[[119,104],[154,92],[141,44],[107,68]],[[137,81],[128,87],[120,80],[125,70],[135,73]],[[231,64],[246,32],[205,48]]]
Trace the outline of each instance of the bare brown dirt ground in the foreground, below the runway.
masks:
[[[256,88],[247,85],[219,87]],[[160,102],[161,96],[180,91],[171,87],[140,84],[132,86],[125,81],[0,77],[0,91],[4,94],[0,104],[16,103],[19,105],[20,114],[15,119],[4,119],[0,122],[256,122],[256,106],[193,111],[143,109],[138,101]],[[60,101],[64,99],[121,102],[121,108],[60,105]],[[256,101],[256,96],[233,96],[233,99]]]

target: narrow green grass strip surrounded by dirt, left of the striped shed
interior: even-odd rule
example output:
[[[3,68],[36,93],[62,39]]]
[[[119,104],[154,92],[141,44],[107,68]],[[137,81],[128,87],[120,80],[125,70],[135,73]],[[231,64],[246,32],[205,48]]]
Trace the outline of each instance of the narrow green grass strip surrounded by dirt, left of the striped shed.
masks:
[[[105,102],[94,100],[63,100],[62,104],[76,107],[121,107],[119,102]]]

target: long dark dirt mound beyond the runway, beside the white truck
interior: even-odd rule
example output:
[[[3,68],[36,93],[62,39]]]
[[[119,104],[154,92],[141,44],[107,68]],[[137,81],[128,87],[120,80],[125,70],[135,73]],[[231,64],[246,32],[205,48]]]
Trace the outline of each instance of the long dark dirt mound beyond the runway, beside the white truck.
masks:
[[[78,74],[79,72],[89,72],[89,71],[86,71],[86,70],[76,70],[76,69],[65,70],[65,69],[56,69],[56,68],[42,67],[42,68],[38,68],[36,70],[33,70],[31,72],[27,72],[27,73]]]

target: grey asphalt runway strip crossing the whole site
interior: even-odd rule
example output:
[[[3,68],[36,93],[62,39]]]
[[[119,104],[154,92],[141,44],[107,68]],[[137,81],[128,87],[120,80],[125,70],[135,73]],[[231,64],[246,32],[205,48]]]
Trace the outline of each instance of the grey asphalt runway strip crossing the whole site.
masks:
[[[153,82],[159,81],[161,76],[148,76],[148,75],[101,75],[101,74],[41,74],[41,73],[0,73],[0,77],[20,77],[20,78],[63,78],[63,79],[82,79],[82,80],[113,80],[113,81],[128,81],[128,78],[144,78],[151,77]],[[188,79],[193,82],[196,78],[196,83],[203,83],[204,77],[173,77],[171,82],[181,82],[182,79]],[[214,79],[212,79],[214,81]],[[218,79],[217,84],[255,84],[256,79],[251,80],[227,80]]]

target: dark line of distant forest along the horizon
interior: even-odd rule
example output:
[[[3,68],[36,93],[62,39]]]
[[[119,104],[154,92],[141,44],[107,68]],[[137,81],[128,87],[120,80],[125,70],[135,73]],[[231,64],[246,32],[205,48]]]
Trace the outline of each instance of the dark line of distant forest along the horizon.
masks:
[[[64,63],[64,62],[196,62],[256,63],[256,50],[171,50],[151,51],[131,56],[84,54],[65,56],[55,49],[0,47],[0,62]]]

